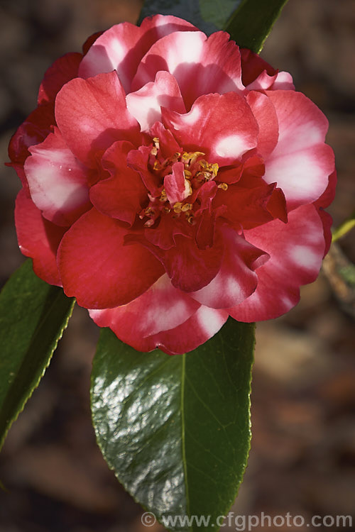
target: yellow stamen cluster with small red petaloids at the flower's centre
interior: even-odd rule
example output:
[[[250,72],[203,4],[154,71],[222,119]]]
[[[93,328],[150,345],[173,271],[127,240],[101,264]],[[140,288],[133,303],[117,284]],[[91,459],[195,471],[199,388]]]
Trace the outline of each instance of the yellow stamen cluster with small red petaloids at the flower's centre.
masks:
[[[209,163],[203,152],[176,152],[164,159],[160,143],[153,138],[148,166],[158,179],[157,194],[148,194],[149,204],[141,211],[141,219],[148,218],[145,227],[151,227],[161,214],[171,213],[173,218],[185,216],[190,225],[195,225],[195,211],[200,209],[199,190],[206,182],[217,177],[217,162]],[[219,183],[219,189],[226,190],[226,183]]]

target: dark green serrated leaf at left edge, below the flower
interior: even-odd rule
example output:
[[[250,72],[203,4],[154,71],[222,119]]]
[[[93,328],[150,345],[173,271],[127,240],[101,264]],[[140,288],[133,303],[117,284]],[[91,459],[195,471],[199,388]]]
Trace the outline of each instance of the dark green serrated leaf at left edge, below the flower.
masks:
[[[26,260],[0,294],[0,448],[38,386],[75,300],[33,273]]]

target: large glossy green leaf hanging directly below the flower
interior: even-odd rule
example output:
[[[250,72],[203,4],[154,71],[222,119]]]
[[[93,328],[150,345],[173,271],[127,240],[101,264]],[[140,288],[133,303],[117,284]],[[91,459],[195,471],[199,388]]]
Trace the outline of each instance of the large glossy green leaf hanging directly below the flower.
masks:
[[[119,481],[170,530],[199,528],[179,516],[211,516],[204,530],[217,531],[236,497],[251,438],[253,344],[253,324],[231,319],[186,355],[138,353],[101,333],[91,392],[97,442]]]

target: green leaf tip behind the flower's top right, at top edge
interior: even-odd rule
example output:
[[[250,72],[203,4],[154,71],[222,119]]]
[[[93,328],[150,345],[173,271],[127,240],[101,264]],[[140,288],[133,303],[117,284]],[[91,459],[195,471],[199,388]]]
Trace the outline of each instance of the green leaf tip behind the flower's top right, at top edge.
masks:
[[[244,0],[229,18],[225,30],[241,48],[259,53],[287,1]]]

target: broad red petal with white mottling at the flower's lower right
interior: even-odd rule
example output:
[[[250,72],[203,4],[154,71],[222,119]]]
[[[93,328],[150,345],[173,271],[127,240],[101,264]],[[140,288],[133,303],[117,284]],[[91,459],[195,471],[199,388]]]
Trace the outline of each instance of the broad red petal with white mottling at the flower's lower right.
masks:
[[[289,213],[288,223],[274,220],[251,231],[246,240],[270,259],[257,270],[256,291],[229,309],[239,321],[261,321],[285,314],[300,299],[300,286],[314,281],[324,255],[323,226],[313,205]]]

